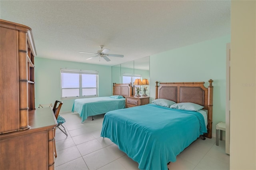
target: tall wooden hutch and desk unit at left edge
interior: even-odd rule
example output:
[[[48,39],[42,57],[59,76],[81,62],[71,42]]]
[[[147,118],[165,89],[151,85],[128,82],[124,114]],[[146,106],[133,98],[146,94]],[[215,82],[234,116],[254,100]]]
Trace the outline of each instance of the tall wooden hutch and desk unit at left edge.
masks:
[[[54,170],[56,119],[35,107],[31,28],[0,20],[0,169]]]

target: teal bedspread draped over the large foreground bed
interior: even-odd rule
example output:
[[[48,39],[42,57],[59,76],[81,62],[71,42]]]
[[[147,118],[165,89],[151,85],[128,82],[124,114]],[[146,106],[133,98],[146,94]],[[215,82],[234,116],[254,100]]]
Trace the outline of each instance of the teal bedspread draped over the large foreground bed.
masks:
[[[142,105],[105,114],[101,136],[118,145],[141,170],[167,170],[168,162],[206,133],[204,117],[157,105]]]

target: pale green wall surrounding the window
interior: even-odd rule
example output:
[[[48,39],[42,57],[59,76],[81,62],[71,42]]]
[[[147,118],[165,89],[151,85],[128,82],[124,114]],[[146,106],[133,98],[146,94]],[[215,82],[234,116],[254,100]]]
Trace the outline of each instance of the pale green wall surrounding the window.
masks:
[[[77,63],[70,61],[60,61],[35,57],[35,103],[54,104],[55,100],[61,100],[60,69],[97,70],[99,97],[112,95],[111,67],[104,65],[94,65]],[[63,105],[60,112],[70,112],[74,99],[62,99]]]

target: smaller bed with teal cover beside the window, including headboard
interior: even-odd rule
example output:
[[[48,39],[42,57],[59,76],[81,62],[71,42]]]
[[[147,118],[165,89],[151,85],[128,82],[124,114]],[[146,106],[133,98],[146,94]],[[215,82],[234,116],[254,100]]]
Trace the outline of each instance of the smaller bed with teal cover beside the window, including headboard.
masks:
[[[109,97],[93,97],[76,99],[74,101],[72,112],[77,112],[82,122],[84,122],[87,117],[95,115],[100,115],[107,113],[109,111],[114,111],[117,109],[125,108],[125,98],[126,96],[132,95],[132,85],[128,84],[116,84],[113,83],[113,95]]]

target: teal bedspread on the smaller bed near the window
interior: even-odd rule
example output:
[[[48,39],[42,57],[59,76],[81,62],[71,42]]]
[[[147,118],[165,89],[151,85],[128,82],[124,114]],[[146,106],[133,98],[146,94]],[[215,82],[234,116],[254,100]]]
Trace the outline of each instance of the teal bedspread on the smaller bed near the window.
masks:
[[[82,122],[88,116],[100,115],[109,111],[125,108],[125,98],[114,99],[110,97],[94,97],[85,99],[76,99],[74,101],[72,112],[76,111],[82,118]]]

